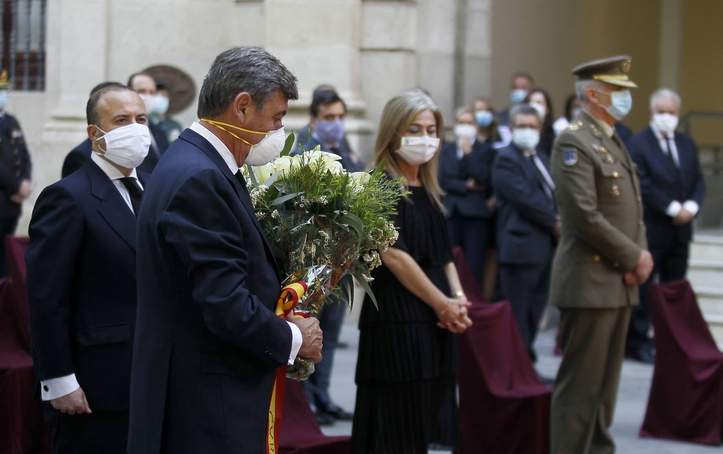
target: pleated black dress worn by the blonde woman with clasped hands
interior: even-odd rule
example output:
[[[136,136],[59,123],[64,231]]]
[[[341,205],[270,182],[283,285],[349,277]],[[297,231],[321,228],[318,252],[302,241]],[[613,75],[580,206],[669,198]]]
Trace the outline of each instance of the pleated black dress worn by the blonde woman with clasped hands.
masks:
[[[444,271],[453,260],[445,218],[423,187],[411,187],[394,219],[406,251],[446,295]],[[458,441],[455,335],[382,264],[372,272],[372,300],[359,319],[352,453],[426,454]]]

